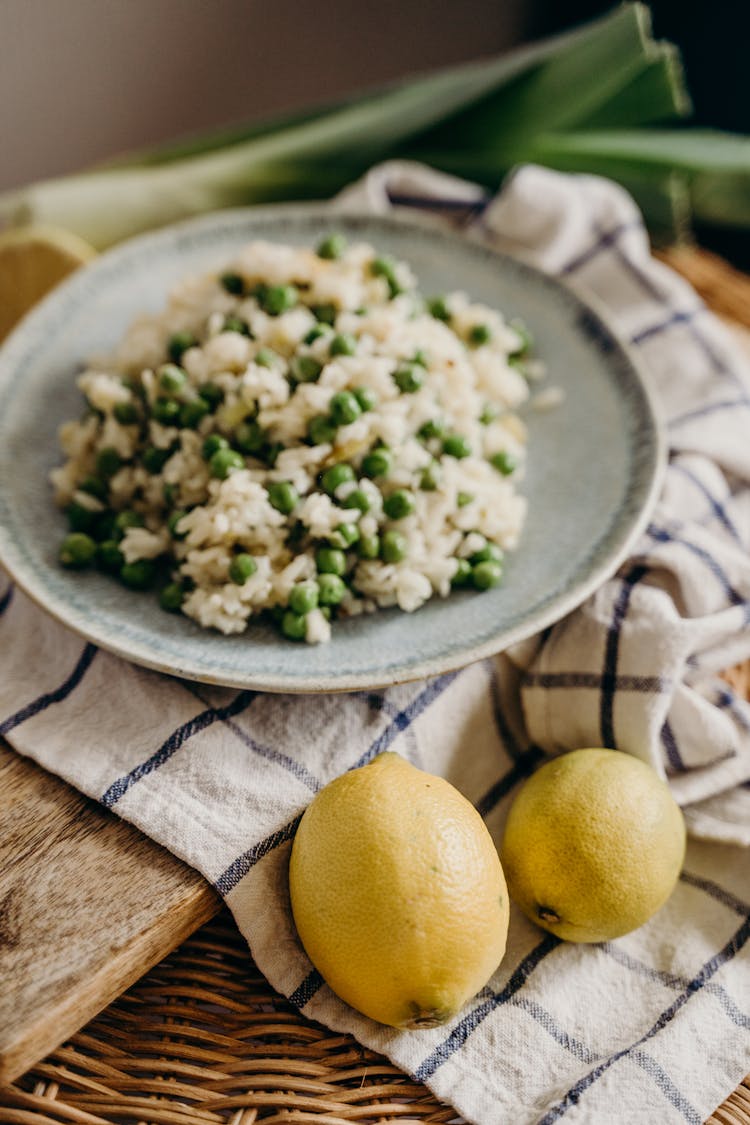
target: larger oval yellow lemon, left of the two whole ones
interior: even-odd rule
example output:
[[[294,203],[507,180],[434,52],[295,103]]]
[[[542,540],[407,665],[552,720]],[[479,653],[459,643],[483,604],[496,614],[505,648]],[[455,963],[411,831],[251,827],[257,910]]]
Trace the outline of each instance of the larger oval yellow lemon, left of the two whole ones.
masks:
[[[508,897],[481,817],[397,754],[315,796],[295,837],[289,889],[322,976],[394,1027],[450,1019],[505,953]]]

